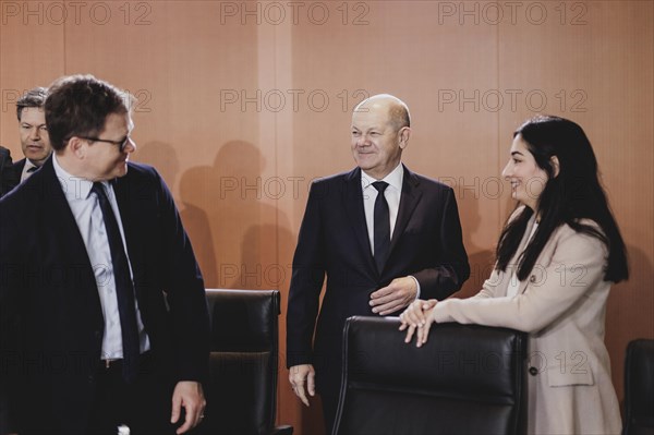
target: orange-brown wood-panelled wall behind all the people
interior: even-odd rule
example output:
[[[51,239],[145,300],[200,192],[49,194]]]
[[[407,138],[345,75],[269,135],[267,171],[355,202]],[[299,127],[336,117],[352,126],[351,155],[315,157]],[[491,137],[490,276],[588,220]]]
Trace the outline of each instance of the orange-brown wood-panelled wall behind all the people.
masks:
[[[65,20],[56,3],[69,8]],[[462,295],[486,277],[513,206],[499,177],[512,131],[537,112],[578,121],[632,262],[607,310],[622,396],[627,341],[654,337],[654,1],[0,7],[0,88],[93,73],[135,94],[134,160],[169,183],[207,286],[278,288],[284,304],[308,184],[353,167],[350,112],[364,96],[408,102],[404,161],[457,192],[473,268]],[[5,94],[0,143],[20,156]],[[282,366],[284,316],[286,306]],[[318,402],[301,407],[287,377],[280,367],[278,420],[320,433]]]

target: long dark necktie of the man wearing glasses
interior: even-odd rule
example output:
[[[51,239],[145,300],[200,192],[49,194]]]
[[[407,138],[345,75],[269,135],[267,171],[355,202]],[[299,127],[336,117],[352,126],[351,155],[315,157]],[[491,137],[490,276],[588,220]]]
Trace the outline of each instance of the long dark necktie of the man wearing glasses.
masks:
[[[136,325],[136,307],[134,304],[134,285],[130,275],[128,256],[118,228],[116,215],[109,204],[109,198],[105,193],[101,183],[93,183],[90,190],[98,197],[105,228],[107,229],[107,239],[109,239],[109,250],[111,251],[111,263],[113,265],[113,278],[116,279],[116,297],[118,299],[118,314],[120,316],[120,328],[123,341],[123,379],[131,383],[136,379],[138,372],[138,327]]]

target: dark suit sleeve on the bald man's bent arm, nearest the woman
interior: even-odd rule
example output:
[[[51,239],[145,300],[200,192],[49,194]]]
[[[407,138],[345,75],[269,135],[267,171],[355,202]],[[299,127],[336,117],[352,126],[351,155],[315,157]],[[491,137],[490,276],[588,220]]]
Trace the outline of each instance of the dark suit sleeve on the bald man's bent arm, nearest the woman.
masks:
[[[470,277],[457,200],[451,189],[445,191],[444,196],[438,241],[433,246],[434,266],[411,274],[420,282],[421,299],[444,300],[458,291]]]

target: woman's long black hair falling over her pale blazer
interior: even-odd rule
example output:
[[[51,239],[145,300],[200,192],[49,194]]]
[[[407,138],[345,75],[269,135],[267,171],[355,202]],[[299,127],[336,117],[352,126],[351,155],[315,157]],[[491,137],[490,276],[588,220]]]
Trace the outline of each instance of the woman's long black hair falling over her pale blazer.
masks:
[[[619,282],[629,278],[625,242],[600,184],[597,159],[581,126],[564,118],[538,116],[523,123],[513,137],[517,135],[525,142],[536,165],[548,178],[538,198],[541,222],[519,257],[518,279],[526,279],[552,233],[564,223],[606,244],[608,265],[604,273],[605,281]],[[553,156],[559,162],[556,177]],[[499,270],[507,269],[534,212],[524,207],[505,226],[496,252]],[[581,223],[580,219],[595,221],[600,230]]]

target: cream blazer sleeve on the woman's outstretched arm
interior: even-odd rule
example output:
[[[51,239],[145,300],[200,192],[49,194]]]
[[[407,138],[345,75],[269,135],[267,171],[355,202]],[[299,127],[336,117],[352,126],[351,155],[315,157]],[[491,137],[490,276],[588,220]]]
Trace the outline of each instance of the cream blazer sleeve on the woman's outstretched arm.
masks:
[[[547,266],[537,263],[523,293],[514,298],[452,299],[434,309],[435,321],[508,327],[536,333],[596,288],[603,280],[606,249],[596,238],[567,228]],[[504,279],[510,279],[504,274]],[[491,289],[482,290],[489,292]],[[489,294],[488,294],[489,295]]]

